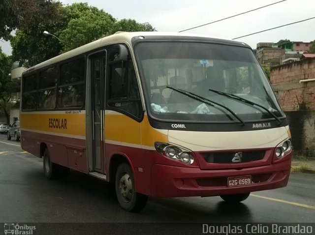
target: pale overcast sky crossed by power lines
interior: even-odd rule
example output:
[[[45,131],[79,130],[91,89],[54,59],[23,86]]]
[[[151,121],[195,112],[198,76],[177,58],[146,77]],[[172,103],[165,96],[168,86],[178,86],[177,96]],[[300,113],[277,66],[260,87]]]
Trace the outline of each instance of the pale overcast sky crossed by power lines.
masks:
[[[246,12],[280,0],[60,0],[63,4],[88,2],[117,20],[133,19],[150,23],[158,31],[178,32]],[[119,2],[119,3],[118,3]],[[315,0],[286,0],[247,14],[186,32],[232,39],[315,17]],[[281,39],[310,42],[315,40],[315,19],[237,39],[253,49],[258,42]],[[53,32],[51,32],[53,33]],[[11,55],[8,42],[0,40],[2,51]]]

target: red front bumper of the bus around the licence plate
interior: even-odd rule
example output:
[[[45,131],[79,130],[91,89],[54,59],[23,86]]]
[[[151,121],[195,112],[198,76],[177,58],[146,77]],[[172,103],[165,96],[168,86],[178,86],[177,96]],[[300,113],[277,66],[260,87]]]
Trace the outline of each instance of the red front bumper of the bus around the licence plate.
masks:
[[[239,194],[286,186],[291,159],[268,166],[242,170],[200,170],[154,164],[151,171],[151,196],[192,197]],[[252,176],[252,184],[227,187],[227,177]]]

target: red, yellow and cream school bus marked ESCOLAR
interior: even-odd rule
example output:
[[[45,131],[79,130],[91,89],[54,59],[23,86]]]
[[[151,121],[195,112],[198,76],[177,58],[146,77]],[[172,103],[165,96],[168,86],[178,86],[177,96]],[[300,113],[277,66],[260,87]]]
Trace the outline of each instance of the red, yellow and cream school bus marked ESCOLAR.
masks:
[[[21,90],[21,145],[45,175],[113,182],[128,211],[287,184],[286,117],[244,43],[119,32],[27,69]]]

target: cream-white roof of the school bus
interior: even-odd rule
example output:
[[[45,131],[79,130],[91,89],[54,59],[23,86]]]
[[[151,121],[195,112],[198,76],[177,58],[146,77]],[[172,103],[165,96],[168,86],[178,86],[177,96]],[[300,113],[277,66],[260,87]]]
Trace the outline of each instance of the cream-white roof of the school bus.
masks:
[[[228,43],[228,44],[235,44],[235,45],[242,45],[242,46],[248,46],[246,43],[243,42],[237,42],[230,39],[223,39],[223,38],[216,38],[211,37],[207,35],[201,35],[201,34],[191,34],[191,33],[183,33],[183,32],[158,32],[158,31],[143,31],[143,32],[116,32],[112,35],[100,38],[98,40],[95,40],[93,42],[90,42],[88,44],[85,44],[81,47],[75,48],[71,51],[65,52],[62,55],[59,55],[57,57],[54,57],[52,59],[48,59],[46,61],[43,61],[39,64],[36,64],[28,69],[26,69],[24,73],[31,72],[33,70],[37,70],[46,66],[49,66],[51,64],[57,63],[59,61],[63,61],[65,59],[69,59],[78,55],[81,55],[83,53],[92,51],[94,49],[97,49],[99,47],[110,45],[110,44],[117,44],[117,43],[126,43],[131,44],[131,39],[135,36],[151,36],[151,38],[154,38],[155,36],[157,38],[163,37],[163,39],[167,38],[176,38],[178,40],[181,39],[188,39],[191,38],[192,40],[206,40],[206,41],[212,41],[217,43]],[[248,46],[249,47],[249,46]]]

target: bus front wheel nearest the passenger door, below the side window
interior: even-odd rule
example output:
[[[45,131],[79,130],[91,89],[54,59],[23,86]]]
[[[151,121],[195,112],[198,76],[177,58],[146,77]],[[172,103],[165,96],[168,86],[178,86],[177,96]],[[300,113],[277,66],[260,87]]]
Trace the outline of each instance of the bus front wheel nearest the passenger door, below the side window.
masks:
[[[115,177],[116,196],[120,206],[126,211],[139,212],[148,201],[148,196],[135,191],[134,177],[131,167],[121,163]]]

